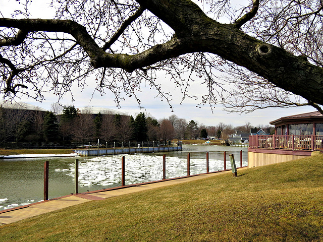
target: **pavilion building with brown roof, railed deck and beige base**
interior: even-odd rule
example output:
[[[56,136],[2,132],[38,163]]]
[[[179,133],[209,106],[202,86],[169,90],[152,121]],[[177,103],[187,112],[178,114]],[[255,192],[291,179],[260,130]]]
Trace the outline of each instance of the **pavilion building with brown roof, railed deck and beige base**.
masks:
[[[323,115],[307,112],[270,122],[275,135],[249,136],[248,167],[300,159],[323,151]]]

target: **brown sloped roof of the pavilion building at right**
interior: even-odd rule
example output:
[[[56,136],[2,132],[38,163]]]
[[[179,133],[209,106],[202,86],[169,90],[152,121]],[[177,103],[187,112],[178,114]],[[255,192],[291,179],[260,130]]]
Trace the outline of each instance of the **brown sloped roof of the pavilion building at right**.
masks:
[[[271,125],[281,125],[281,124],[291,124],[292,122],[313,122],[314,120],[322,120],[323,122],[323,115],[319,111],[314,112],[306,112],[295,114],[291,116],[281,117],[272,122]]]

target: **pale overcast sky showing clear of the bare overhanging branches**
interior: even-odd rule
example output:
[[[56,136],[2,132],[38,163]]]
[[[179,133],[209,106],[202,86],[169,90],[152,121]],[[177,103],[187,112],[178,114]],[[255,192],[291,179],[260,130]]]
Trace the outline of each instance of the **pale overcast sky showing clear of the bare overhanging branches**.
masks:
[[[34,0],[32,4],[37,6],[31,11],[33,18],[49,18],[52,12],[49,12],[48,8],[46,7],[47,4],[44,0]],[[17,6],[17,2],[15,0],[1,0],[0,1],[0,10],[3,14],[6,14],[4,17],[10,17],[10,14]],[[39,11],[40,10],[40,11]],[[84,107],[84,106],[98,106],[98,107],[105,107],[105,108],[112,108],[117,109],[116,103],[114,103],[113,95],[106,92],[106,94],[102,97],[99,93],[94,93],[95,88],[95,78],[89,78],[87,81],[89,86],[86,89],[81,91],[77,87],[73,87],[73,95],[75,102],[71,102],[70,96],[65,96],[63,100],[61,100],[61,104],[63,105],[75,105],[75,107]],[[93,83],[93,85],[91,85]],[[244,125],[245,123],[250,122],[252,126],[259,126],[259,125],[268,125],[269,122],[280,118],[282,116],[293,115],[297,113],[303,112],[310,112],[315,111],[312,107],[298,107],[298,108],[268,108],[263,110],[256,110],[252,113],[248,114],[237,114],[237,113],[227,113],[223,111],[223,107],[218,105],[216,108],[213,109],[213,113],[209,106],[203,106],[201,108],[196,107],[199,103],[194,99],[185,99],[180,105],[181,102],[181,95],[179,90],[174,90],[172,85],[166,81],[163,82],[162,88],[166,88],[167,90],[171,91],[173,94],[172,98],[172,106],[174,112],[169,107],[168,103],[165,101],[161,101],[159,98],[154,98],[156,96],[155,92],[152,92],[149,88],[146,88],[143,84],[142,86],[142,93],[140,94],[139,98],[141,100],[141,105],[144,109],[140,109],[138,104],[136,103],[134,98],[127,98],[125,101],[121,102],[121,108],[119,111],[124,113],[128,113],[130,115],[136,115],[140,111],[149,113],[151,116],[160,119],[160,118],[167,118],[172,114],[177,115],[180,118],[185,118],[187,122],[189,120],[194,120],[199,124],[204,124],[206,126],[217,126],[220,122],[225,124],[231,124],[233,126],[240,126]],[[190,87],[190,95],[201,95],[203,88],[199,84],[199,80]],[[205,92],[204,92],[205,93]],[[45,99],[42,103],[36,102],[32,99],[22,98],[21,100],[17,99],[17,101],[27,102],[44,109],[50,109],[50,104],[57,102],[57,97],[50,94],[45,94]]]

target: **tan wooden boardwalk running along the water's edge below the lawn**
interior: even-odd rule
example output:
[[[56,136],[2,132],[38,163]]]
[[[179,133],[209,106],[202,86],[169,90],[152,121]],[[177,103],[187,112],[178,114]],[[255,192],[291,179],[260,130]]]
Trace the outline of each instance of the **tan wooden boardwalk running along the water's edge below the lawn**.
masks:
[[[246,167],[243,167],[242,169],[245,169],[245,168]],[[56,199],[50,199],[43,202],[38,202],[34,204],[29,204],[26,206],[0,211],[0,225],[13,223],[25,218],[33,217],[43,213],[48,213],[51,211],[85,203],[88,201],[103,200],[110,197],[121,196],[124,194],[135,193],[135,192],[144,191],[148,189],[186,183],[188,181],[203,179],[206,177],[211,177],[211,176],[228,173],[228,172],[232,173],[231,170],[227,170],[227,171],[221,171],[221,172],[215,172],[215,173],[185,176],[182,178],[167,179],[167,180],[157,181],[154,183],[145,183],[140,185],[125,186],[125,187],[119,187],[119,188],[113,188],[113,189],[107,189],[107,190],[94,191],[89,193],[73,194],[73,195],[68,195],[68,196],[64,196]]]

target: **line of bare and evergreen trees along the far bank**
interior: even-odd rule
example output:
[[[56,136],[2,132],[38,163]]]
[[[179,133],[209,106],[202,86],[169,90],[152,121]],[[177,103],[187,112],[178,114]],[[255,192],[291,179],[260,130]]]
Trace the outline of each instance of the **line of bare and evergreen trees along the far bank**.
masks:
[[[60,113],[60,114],[58,114]],[[0,106],[0,142],[82,143],[113,141],[167,141],[170,139],[228,139],[236,132],[249,133],[251,125],[233,127],[224,123],[205,126],[194,120],[171,115],[157,120],[143,112],[132,115],[103,111],[93,114],[91,107],[82,111],[64,106],[51,111],[3,108]]]

